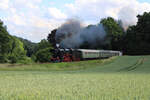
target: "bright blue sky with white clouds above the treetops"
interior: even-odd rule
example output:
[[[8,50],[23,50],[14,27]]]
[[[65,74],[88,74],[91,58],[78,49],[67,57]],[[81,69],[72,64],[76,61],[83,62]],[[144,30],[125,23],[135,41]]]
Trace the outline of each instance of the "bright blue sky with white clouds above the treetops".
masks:
[[[138,14],[149,11],[150,0],[0,0],[0,19],[9,33],[33,42],[70,18],[88,25],[110,16],[134,25]]]

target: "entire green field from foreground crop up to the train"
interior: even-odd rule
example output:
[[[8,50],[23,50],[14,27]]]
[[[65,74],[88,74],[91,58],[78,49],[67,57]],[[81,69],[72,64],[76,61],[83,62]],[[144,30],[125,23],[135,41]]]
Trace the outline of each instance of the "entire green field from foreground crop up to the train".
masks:
[[[150,100],[150,56],[0,64],[0,100]]]

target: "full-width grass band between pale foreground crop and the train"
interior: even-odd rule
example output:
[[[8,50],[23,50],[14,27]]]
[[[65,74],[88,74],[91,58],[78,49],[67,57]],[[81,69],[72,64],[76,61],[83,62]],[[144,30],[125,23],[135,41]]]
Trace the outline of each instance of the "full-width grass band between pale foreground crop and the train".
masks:
[[[0,71],[150,72],[150,56],[123,56],[105,60],[31,65],[0,64]]]

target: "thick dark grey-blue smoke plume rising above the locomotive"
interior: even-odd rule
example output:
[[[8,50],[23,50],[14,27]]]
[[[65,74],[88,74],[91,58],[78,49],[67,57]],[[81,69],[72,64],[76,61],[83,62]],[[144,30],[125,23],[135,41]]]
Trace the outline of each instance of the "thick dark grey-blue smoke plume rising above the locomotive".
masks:
[[[78,48],[84,42],[91,46],[102,42],[106,32],[102,24],[84,27],[77,19],[69,19],[56,32],[56,41],[63,48]]]

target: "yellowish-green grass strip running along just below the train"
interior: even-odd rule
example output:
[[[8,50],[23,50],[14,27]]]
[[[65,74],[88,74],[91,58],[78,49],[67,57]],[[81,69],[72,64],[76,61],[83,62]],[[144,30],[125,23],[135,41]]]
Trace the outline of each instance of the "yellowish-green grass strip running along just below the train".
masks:
[[[116,57],[105,60],[90,60],[81,62],[45,63],[45,64],[30,64],[30,65],[1,64],[0,71],[77,71],[109,64],[115,59]]]

